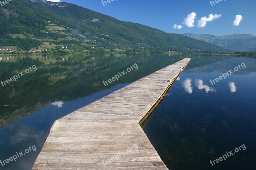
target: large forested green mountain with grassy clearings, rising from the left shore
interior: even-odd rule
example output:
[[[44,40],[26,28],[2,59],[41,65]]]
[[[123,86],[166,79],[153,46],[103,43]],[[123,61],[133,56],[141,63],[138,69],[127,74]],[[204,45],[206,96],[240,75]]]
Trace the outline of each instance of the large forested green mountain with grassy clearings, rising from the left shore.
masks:
[[[0,8],[0,47],[54,52],[226,51],[64,2],[11,1]],[[67,47],[67,48],[66,48]]]

